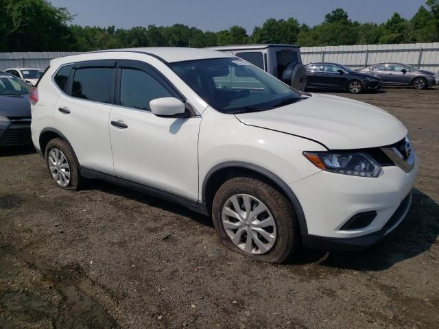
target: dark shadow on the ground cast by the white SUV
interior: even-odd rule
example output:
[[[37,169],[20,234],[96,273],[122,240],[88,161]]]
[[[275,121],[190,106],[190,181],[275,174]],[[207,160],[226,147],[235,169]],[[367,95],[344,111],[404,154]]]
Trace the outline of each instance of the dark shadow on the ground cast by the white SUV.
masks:
[[[99,189],[105,193],[128,197],[148,206],[161,208],[185,216],[213,228],[210,217],[200,215],[183,206],[128,188],[99,180],[90,180],[86,189]],[[439,235],[439,206],[428,195],[414,190],[412,206],[406,219],[393,232],[364,252],[340,253],[303,249],[287,265],[316,263],[324,267],[357,271],[382,271],[408,258],[418,256],[431,248]]]

